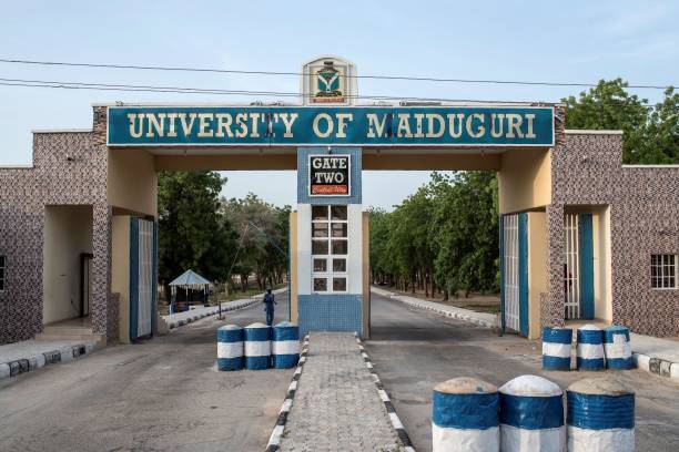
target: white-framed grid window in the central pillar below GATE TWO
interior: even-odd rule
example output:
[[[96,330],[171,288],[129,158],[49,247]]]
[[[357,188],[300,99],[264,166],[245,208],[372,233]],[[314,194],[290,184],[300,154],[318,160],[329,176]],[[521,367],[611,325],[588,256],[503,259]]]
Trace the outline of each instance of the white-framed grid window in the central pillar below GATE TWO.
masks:
[[[346,206],[312,206],[314,292],[346,292],[348,218]]]

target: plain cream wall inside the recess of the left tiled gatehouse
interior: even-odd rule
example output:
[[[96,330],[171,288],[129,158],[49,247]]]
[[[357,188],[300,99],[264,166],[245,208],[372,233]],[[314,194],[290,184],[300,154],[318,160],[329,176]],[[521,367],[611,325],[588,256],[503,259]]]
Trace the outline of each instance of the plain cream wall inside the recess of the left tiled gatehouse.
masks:
[[[80,317],[80,254],[92,253],[92,206],[45,206],[42,322]]]

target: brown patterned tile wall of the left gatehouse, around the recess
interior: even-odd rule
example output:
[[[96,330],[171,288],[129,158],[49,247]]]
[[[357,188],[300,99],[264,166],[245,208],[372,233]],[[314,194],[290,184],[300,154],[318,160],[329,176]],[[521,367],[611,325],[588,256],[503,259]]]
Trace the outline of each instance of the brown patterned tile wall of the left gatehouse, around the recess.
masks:
[[[107,201],[108,150],[89,132],[33,135],[32,168],[0,168],[0,253],[7,290],[0,294],[0,343],[42,330],[44,207],[93,206],[91,319],[94,332],[114,341],[118,322],[110,296],[111,208]]]

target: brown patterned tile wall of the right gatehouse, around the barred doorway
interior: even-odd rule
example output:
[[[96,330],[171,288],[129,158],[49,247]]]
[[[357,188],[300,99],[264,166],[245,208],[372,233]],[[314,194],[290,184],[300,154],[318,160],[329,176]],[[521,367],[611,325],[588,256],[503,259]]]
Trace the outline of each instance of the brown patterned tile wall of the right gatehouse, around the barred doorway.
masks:
[[[618,134],[567,134],[551,155],[547,208],[549,306],[564,321],[564,207],[609,205],[612,321],[635,332],[679,336],[679,290],[650,287],[650,255],[679,254],[679,167],[622,167]]]

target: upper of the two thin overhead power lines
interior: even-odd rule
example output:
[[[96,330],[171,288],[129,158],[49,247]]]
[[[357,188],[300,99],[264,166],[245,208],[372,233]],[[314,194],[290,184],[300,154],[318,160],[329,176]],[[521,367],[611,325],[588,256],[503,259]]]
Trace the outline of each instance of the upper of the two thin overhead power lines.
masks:
[[[186,68],[186,66],[159,66],[159,65],[138,65],[138,64],[107,64],[107,63],[77,63],[65,61],[36,61],[36,60],[17,60],[17,59],[0,59],[0,63],[10,64],[34,64],[34,65],[52,65],[52,66],[72,66],[72,68],[99,68],[99,69],[130,69],[142,71],[173,71],[173,72],[209,72],[222,74],[243,74],[243,75],[306,75],[302,72],[290,71],[245,71],[235,69],[215,69],[215,68]],[[530,86],[579,86],[595,88],[597,83],[577,83],[577,82],[543,82],[543,81],[517,81],[517,80],[479,80],[479,79],[447,79],[435,76],[406,76],[406,75],[351,75],[343,74],[342,76],[349,79],[377,79],[377,80],[402,80],[412,82],[438,82],[438,83],[476,83],[476,84],[500,84],[500,85],[530,85]],[[631,89],[648,89],[648,90],[667,90],[670,85],[652,85],[652,84],[630,84],[627,88]]]

